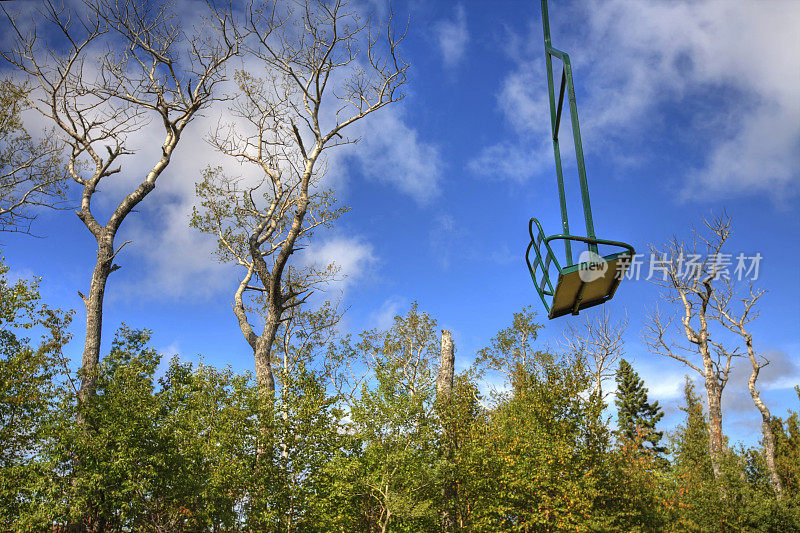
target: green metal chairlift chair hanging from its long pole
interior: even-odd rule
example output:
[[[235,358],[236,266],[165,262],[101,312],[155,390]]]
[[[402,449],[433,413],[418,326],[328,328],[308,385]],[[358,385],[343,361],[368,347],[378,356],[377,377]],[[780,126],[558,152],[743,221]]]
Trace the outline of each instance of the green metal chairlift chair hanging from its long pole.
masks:
[[[578,124],[578,108],[575,102],[575,86],[572,81],[572,65],[566,52],[553,48],[550,41],[550,21],[547,12],[547,0],[542,2],[542,23],[544,29],[545,61],[547,63],[547,88],[550,96],[550,124],[553,136],[553,152],[556,160],[556,176],[558,179],[558,197],[561,206],[561,224],[563,233],[545,235],[542,225],[535,218],[528,224],[530,244],[525,252],[525,261],[533,279],[536,291],[547,309],[549,318],[556,318],[566,314],[577,315],[582,309],[602,304],[614,297],[625,270],[635,254],[633,246],[620,241],[598,239],[594,232],[592,221],[592,207],[589,201],[589,185],[586,180],[586,166],[583,160],[583,145],[581,131]],[[555,98],[553,84],[553,58],[561,60],[561,86],[558,91],[558,103]],[[561,110],[564,104],[566,91],[569,101],[570,119],[572,122],[572,138],[575,143],[575,156],[577,158],[578,178],[580,181],[581,198],[583,199],[583,216],[586,221],[586,237],[572,235],[569,232],[567,216],[567,201],[564,194],[564,175],[561,168],[561,151],[558,144],[558,130],[561,123]],[[551,243],[563,241],[566,252],[566,264],[556,259]],[[572,243],[584,243],[591,252],[588,261],[576,264],[572,258]],[[610,255],[600,256],[598,245],[621,248],[622,250]],[[531,251],[534,252],[531,260]],[[551,282],[551,269],[557,273],[555,287]],[[552,298],[548,304],[549,298]]]

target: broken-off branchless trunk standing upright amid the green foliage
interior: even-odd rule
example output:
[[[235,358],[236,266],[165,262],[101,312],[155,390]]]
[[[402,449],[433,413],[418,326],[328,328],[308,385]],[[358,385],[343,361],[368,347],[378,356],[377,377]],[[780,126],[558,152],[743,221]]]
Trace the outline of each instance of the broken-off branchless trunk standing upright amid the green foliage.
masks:
[[[448,467],[452,466],[455,442],[453,442],[452,414],[450,413],[450,398],[453,394],[453,374],[455,368],[455,347],[450,332],[442,330],[442,358],[439,364],[439,374],[436,377],[436,403],[439,416],[442,420],[444,446],[442,447],[443,460]],[[449,468],[445,469],[449,472]],[[442,486],[442,531],[449,533],[456,530],[455,508],[457,489],[453,476],[446,475]]]

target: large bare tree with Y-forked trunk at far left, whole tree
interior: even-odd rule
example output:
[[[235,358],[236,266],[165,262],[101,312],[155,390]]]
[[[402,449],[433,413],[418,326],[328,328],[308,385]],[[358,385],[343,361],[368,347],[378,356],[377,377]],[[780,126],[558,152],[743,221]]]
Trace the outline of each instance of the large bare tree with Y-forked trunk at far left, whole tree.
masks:
[[[169,5],[145,0],[87,0],[82,10],[46,0],[28,26],[6,11],[16,46],[2,56],[27,75],[34,90],[27,103],[48,120],[67,146],[67,170],[81,187],[78,218],[97,242],[86,307],[86,338],[79,401],[95,388],[103,298],[114,263],[127,242],[115,238],[125,218],[155,188],[184,130],[215,98],[225,62],[238,53],[230,12],[209,4],[202,27],[184,29]],[[26,28],[32,29],[26,29]],[[51,41],[42,42],[46,35]],[[153,161],[133,157],[132,133],[150,119],[163,127]],[[123,175],[138,183],[105,222],[93,208],[101,185]]]

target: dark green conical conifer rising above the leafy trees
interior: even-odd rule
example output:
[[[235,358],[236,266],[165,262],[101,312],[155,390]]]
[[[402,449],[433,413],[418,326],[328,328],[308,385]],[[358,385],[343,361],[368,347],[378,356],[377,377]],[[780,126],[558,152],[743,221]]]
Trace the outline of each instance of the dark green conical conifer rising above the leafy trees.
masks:
[[[650,403],[647,398],[647,387],[639,374],[625,359],[619,363],[617,370],[617,404],[619,434],[623,439],[641,439],[643,449],[660,454],[666,448],[658,443],[663,436],[655,427],[664,416],[658,402]]]

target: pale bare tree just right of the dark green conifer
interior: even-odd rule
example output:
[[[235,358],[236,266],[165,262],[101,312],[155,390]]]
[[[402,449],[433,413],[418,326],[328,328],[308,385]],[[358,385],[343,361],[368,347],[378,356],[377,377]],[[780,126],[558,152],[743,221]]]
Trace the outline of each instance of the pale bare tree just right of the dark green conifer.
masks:
[[[722,392],[728,384],[737,352],[712,338],[712,325],[720,321],[714,302],[725,268],[721,251],[730,236],[731,220],[723,215],[706,220],[705,226],[710,232],[708,238],[694,229],[689,245],[673,238],[663,250],[651,247],[652,257],[663,272],[662,279],[654,282],[666,289],[663,299],[678,307],[679,330],[689,345],[682,346],[671,340],[674,317],[665,319],[658,309],[651,316],[645,341],[653,353],[680,361],[702,376],[708,401],[709,454],[714,477],[719,479],[726,451]]]

